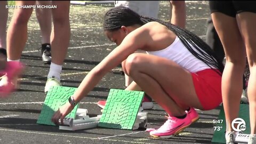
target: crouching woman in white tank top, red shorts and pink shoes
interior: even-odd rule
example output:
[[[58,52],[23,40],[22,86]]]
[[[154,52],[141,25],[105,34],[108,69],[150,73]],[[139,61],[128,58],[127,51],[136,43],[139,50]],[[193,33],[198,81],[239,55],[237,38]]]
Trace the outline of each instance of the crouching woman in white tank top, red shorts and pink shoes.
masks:
[[[195,34],[124,6],[106,13],[103,28],[118,46],[83,79],[73,95],[75,102],[121,62],[134,80],[126,90],[146,92],[169,114],[163,126],[150,132],[153,137],[178,134],[198,119],[194,108],[210,110],[222,102],[223,65]],[[148,54],[134,53],[137,50]],[[66,103],[52,121],[58,124],[73,108]]]

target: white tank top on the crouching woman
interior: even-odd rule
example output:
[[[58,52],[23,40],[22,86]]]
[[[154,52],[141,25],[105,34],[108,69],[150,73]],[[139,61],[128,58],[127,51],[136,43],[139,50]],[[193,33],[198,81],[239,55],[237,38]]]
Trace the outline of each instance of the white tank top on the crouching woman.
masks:
[[[194,46],[191,44],[190,46],[197,51]],[[175,38],[174,42],[165,49],[160,51],[147,51],[147,53],[172,60],[191,73],[196,73],[197,71],[210,68],[203,61],[197,59],[192,53],[190,53],[178,36]]]

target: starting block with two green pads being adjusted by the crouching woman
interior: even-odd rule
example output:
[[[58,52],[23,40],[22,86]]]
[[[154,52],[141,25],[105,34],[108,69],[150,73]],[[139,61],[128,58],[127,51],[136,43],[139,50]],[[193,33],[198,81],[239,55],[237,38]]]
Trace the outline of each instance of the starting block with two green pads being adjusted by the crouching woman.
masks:
[[[55,125],[51,118],[55,111],[68,101],[75,87],[53,86],[48,91],[37,124]],[[82,130],[101,126],[112,129],[137,130],[147,127],[147,113],[139,112],[144,92],[110,89],[102,115],[89,117],[87,109],[78,105],[63,119],[60,130]],[[60,122],[60,119],[59,119]]]

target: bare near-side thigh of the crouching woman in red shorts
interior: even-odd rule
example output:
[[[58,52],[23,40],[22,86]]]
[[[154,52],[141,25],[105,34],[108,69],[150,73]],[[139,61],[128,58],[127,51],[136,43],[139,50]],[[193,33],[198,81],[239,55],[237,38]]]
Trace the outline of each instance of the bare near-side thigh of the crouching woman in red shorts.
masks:
[[[131,60],[132,59],[132,60]],[[164,91],[174,97],[198,101],[191,73],[179,66],[174,61],[150,54],[131,54],[126,63],[132,63],[130,67],[147,74],[155,79]],[[130,71],[126,65],[126,71]]]

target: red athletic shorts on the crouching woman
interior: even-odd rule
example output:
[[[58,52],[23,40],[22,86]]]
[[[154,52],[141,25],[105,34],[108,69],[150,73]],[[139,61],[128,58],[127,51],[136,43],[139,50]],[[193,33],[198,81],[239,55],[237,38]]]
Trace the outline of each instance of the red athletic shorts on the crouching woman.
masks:
[[[218,69],[215,69],[219,71]],[[204,110],[211,110],[220,105],[221,76],[213,69],[205,69],[191,73],[196,94]]]

